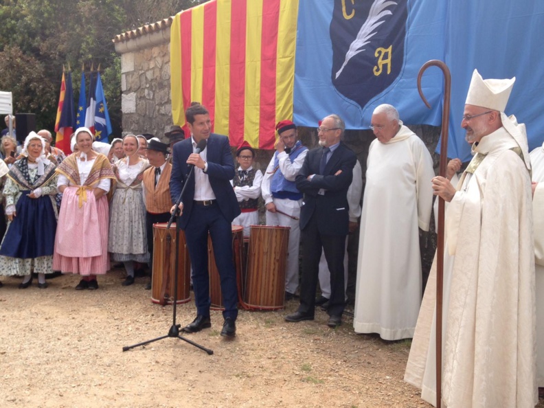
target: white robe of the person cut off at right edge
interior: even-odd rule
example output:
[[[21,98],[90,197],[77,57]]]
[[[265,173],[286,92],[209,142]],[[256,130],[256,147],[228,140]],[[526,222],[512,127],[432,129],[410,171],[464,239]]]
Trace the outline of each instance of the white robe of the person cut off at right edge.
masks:
[[[536,385],[544,387],[544,144],[531,154],[536,301]]]

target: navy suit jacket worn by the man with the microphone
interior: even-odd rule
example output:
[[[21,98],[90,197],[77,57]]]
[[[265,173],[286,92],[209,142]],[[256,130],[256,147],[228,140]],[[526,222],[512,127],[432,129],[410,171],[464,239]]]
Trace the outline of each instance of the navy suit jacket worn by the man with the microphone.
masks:
[[[189,167],[187,159],[193,152],[192,138],[179,141],[174,144],[172,152],[172,177],[170,177],[170,196],[172,203],[176,203],[187,181]],[[217,199],[219,209],[229,221],[240,215],[240,206],[236,200],[236,194],[230,183],[234,178],[234,161],[229,145],[229,139],[223,135],[212,133],[207,139],[206,146],[207,172],[209,184]],[[185,229],[191,216],[194,200],[194,176],[191,177],[187,189],[183,193],[183,214],[179,220],[181,229]]]

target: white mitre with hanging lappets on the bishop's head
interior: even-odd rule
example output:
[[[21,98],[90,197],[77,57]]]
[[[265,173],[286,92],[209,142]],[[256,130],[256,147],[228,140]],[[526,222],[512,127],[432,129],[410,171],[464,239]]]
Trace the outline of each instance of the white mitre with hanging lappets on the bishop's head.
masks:
[[[484,78],[481,78],[478,70],[475,69],[471,80],[471,86],[468,87],[465,104],[481,106],[486,109],[491,109],[492,111],[499,111],[501,113],[503,127],[517,141],[523,154],[525,167],[530,169],[531,163],[529,159],[529,146],[525,124],[518,124],[514,115],[508,117],[506,113],[504,113],[506,104],[508,104],[508,98],[510,98],[510,93],[512,92],[512,87],[514,87],[514,82],[516,82],[516,77],[503,80],[484,80]]]

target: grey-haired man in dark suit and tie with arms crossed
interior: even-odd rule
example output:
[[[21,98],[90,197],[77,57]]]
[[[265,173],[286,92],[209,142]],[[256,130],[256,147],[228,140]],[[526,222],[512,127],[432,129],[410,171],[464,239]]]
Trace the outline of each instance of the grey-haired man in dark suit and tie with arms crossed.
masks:
[[[329,115],[319,126],[319,148],[306,155],[296,182],[304,193],[300,211],[302,231],[302,280],[300,305],[286,321],[313,320],[315,290],[321,248],[330,271],[329,327],[341,324],[345,306],[343,257],[348,236],[348,188],[356,163],[355,153],[340,140],[345,124],[338,115]]]

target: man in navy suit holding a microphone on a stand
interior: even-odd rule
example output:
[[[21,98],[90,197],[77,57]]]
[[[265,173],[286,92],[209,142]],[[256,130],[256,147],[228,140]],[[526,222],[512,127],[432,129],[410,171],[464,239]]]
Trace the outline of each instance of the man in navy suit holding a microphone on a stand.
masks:
[[[185,111],[185,118],[191,137],[174,145],[172,152],[172,177],[170,194],[175,203],[181,194],[184,183],[188,183],[179,205],[181,216],[179,227],[185,231],[191,258],[196,319],[185,326],[185,332],[198,332],[209,328],[209,275],[207,267],[207,237],[212,237],[214,255],[221,282],[221,293],[225,310],[222,336],[236,335],[238,316],[238,291],[236,288],[236,269],[232,262],[231,222],[240,214],[236,194],[230,184],[234,177],[229,139],[211,133],[212,125],[207,109],[201,104],[193,104]],[[207,140],[205,149],[196,154],[196,145]],[[190,166],[194,174],[188,179]],[[174,211],[175,207],[172,207]]]

